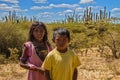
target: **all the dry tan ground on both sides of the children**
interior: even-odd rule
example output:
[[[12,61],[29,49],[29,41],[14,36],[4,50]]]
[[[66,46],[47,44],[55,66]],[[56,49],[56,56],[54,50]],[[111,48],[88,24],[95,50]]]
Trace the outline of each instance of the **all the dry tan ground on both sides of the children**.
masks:
[[[120,59],[104,58],[97,50],[78,53],[78,80],[120,80]],[[0,80],[26,80],[27,71],[18,64],[0,65]]]

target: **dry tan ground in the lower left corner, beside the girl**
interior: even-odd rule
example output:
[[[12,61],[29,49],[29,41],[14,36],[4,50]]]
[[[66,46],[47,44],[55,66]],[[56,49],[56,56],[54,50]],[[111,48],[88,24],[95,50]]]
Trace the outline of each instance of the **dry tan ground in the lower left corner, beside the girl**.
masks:
[[[0,80],[26,80],[27,71],[19,64],[0,65]]]

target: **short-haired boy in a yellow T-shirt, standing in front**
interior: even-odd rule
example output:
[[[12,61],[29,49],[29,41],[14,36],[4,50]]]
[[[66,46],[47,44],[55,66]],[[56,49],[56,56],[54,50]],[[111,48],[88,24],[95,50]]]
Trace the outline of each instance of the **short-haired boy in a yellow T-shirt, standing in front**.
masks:
[[[77,67],[80,61],[70,49],[70,33],[67,29],[54,30],[53,42],[56,48],[45,58],[42,68],[45,69],[47,80],[77,80]]]

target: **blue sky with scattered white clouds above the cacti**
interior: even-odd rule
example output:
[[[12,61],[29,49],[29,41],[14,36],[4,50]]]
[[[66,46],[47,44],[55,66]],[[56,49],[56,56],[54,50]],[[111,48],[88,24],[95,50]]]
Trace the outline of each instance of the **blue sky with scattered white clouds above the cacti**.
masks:
[[[43,22],[53,22],[64,20],[65,15],[74,11],[83,15],[86,7],[99,13],[104,6],[111,16],[120,17],[120,0],[0,0],[0,18],[15,10],[17,16],[34,16]]]

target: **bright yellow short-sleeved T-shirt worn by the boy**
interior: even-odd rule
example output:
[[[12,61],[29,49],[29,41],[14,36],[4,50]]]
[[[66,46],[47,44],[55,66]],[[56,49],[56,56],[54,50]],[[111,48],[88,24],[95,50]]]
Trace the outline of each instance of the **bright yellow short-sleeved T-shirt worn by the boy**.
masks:
[[[51,80],[72,80],[74,69],[79,65],[79,58],[72,51],[60,53],[55,48],[47,55],[42,67],[49,70]]]

